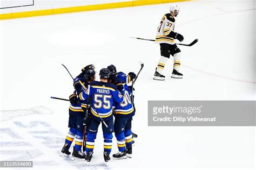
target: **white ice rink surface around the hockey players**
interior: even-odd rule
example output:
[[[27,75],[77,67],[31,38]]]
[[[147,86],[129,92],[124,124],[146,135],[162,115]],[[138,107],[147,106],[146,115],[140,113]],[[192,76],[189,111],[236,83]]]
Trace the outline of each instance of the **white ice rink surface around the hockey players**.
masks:
[[[170,4],[1,20],[0,159],[36,169],[255,169],[255,127],[147,126],[148,100],[255,100],[255,1],[176,4],[176,31],[199,41],[180,46],[184,78],[170,78],[170,58],[164,82],[152,80],[159,45],[129,37],[154,39]],[[69,103],[50,96],[73,91],[61,63],[75,76],[90,63],[138,72],[138,61],[133,158],[105,163],[102,130],[90,163],[59,157]]]

